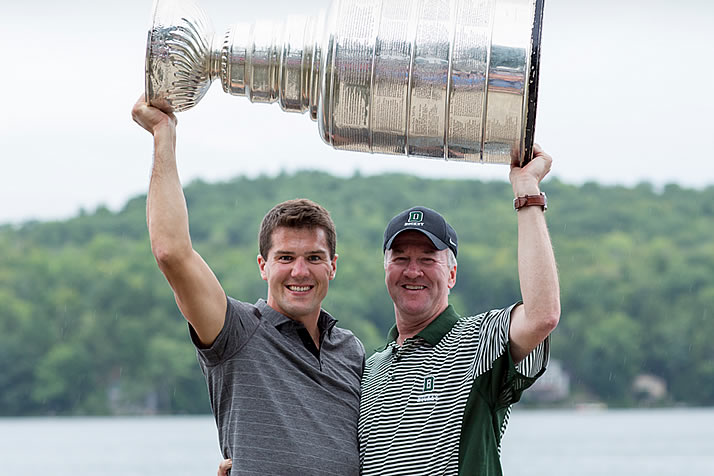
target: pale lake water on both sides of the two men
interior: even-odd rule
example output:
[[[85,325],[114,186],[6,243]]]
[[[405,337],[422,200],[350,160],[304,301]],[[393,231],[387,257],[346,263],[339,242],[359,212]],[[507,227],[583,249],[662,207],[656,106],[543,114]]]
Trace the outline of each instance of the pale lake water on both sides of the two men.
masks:
[[[0,419],[0,475],[197,476],[221,456],[213,418]],[[714,409],[521,410],[506,476],[712,476]]]

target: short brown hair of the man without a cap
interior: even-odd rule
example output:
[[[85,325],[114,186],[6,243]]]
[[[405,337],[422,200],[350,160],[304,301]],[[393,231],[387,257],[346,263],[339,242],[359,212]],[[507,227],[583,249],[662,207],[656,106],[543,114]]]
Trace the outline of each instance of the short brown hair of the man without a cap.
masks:
[[[270,248],[273,246],[273,231],[279,226],[308,229],[322,228],[325,230],[330,259],[335,257],[337,247],[335,224],[330,218],[330,213],[312,200],[307,198],[288,200],[278,203],[265,214],[258,233],[260,255],[265,259],[267,259]]]

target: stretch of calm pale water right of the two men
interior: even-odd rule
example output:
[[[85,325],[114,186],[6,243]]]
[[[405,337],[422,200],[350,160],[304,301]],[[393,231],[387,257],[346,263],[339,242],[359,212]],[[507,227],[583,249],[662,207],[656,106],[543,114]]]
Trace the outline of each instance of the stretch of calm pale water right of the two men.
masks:
[[[506,476],[714,476],[714,408],[516,411]]]

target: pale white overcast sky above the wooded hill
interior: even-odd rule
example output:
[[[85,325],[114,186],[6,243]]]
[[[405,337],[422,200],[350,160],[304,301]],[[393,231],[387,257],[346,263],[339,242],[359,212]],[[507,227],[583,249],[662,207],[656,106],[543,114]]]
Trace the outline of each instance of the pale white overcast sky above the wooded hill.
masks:
[[[327,0],[201,0],[237,21]],[[0,3],[0,223],[112,209],[145,193],[152,141],[130,118],[151,0]],[[547,0],[536,140],[569,183],[714,184],[714,2]],[[507,180],[505,166],[338,152],[309,116],[219,84],[179,114],[184,183],[297,169]],[[306,191],[309,195],[309,191]]]

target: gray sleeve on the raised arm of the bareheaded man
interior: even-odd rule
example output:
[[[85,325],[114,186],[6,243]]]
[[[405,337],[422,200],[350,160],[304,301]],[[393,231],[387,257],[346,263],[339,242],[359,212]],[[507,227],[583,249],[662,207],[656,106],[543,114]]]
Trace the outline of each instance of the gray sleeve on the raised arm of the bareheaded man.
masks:
[[[250,340],[260,325],[260,311],[252,304],[227,299],[223,329],[208,347],[201,345],[196,331],[188,325],[191,342],[196,347],[202,365],[212,367],[229,359]]]

